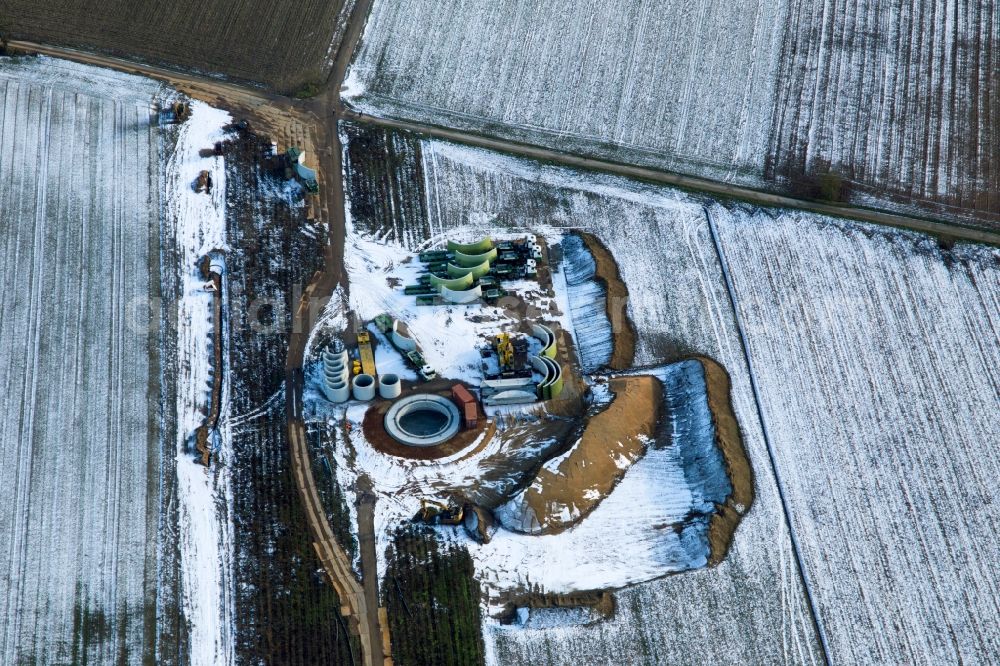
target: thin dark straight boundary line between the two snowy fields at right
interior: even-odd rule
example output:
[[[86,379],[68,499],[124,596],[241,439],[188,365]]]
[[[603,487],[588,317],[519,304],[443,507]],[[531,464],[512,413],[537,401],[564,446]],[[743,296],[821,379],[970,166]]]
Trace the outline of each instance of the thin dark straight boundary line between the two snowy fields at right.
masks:
[[[792,554],[795,557],[795,566],[798,568],[799,577],[802,579],[802,588],[805,591],[806,602],[809,604],[809,614],[812,616],[813,628],[816,630],[816,637],[819,639],[819,646],[823,652],[823,662],[826,666],[830,666],[830,649],[827,645],[826,633],[823,630],[823,624],[819,618],[816,600],[813,598],[809,575],[802,563],[801,548],[799,547],[799,540],[795,536],[795,528],[792,526],[792,514],[788,507],[788,499],[785,497],[785,491],[781,485],[781,474],[778,472],[778,463],[774,455],[774,447],[771,444],[771,434],[767,428],[767,419],[764,416],[764,407],[760,399],[760,387],[757,384],[757,375],[754,374],[753,363],[750,360],[750,345],[747,342],[746,332],[743,328],[743,320],[740,318],[739,307],[737,305],[736,289],[733,287],[732,278],[729,275],[729,266],[726,264],[726,258],[722,252],[722,243],[719,241],[719,235],[715,229],[715,222],[712,220],[712,213],[706,206],[702,206],[702,210],[705,212],[705,218],[708,220],[708,231],[712,236],[712,244],[714,245],[715,253],[719,258],[719,267],[722,270],[722,278],[726,286],[726,293],[729,296],[729,303],[733,308],[733,320],[736,323],[736,332],[740,338],[740,345],[743,347],[743,357],[746,360],[747,374],[750,377],[750,389],[753,393],[754,404],[757,407],[757,420],[760,422],[761,432],[764,435],[764,446],[767,449],[767,457],[771,464],[771,471],[774,473],[774,484],[778,490],[778,498],[781,500],[781,510],[782,513],[785,514],[785,524],[788,526],[788,535],[792,542]]]

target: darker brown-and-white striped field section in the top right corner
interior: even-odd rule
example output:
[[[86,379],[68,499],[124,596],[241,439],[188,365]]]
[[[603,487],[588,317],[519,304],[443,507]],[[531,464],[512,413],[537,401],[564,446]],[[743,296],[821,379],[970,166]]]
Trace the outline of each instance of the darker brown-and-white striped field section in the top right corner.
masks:
[[[857,196],[1000,225],[997,3],[791,6],[768,175],[829,164]]]

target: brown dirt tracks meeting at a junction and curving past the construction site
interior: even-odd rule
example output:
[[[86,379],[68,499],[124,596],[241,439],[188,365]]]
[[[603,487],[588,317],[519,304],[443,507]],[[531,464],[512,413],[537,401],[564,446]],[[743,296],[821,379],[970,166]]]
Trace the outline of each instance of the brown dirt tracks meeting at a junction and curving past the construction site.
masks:
[[[344,107],[340,99],[340,90],[351,57],[361,38],[361,32],[368,18],[371,4],[372,0],[358,0],[344,32],[337,57],[334,60],[334,65],[327,80],[326,89],[321,95],[311,100],[294,100],[264,91],[260,88],[75,49],[25,41],[10,41],[10,46],[22,51],[33,51],[67,60],[149,76],[165,81],[199,98],[205,96],[217,97],[222,106],[249,111],[261,106],[285,109],[289,113],[295,113],[300,117],[305,116],[310,118],[314,124],[313,129],[324,139],[324,143],[321,145],[329,146],[328,150],[319,149],[316,151],[318,153],[317,157],[320,160],[320,177],[325,185],[322,188],[322,196],[324,197],[323,210],[326,212],[326,218],[329,222],[329,244],[325,253],[325,267],[314,276],[312,282],[305,290],[299,307],[293,313],[293,330],[289,336],[288,356],[285,363],[289,455],[291,456],[293,475],[304,504],[305,514],[313,536],[316,539],[314,547],[337,594],[340,596],[342,612],[349,614],[352,618],[352,627],[357,630],[360,637],[362,658],[368,666],[392,663],[389,650],[383,649],[383,645],[386,648],[389,646],[389,636],[388,627],[381,627],[379,621],[377,572],[369,570],[374,567],[365,566],[365,563],[376,561],[374,529],[371,524],[373,521],[370,518],[374,507],[374,497],[369,493],[362,493],[364,497],[362,498],[363,506],[361,509],[363,509],[368,519],[363,521],[364,524],[359,525],[358,530],[359,543],[362,548],[363,574],[363,584],[359,584],[354,577],[350,559],[333,536],[333,531],[326,519],[326,512],[319,499],[319,493],[316,490],[316,484],[312,475],[312,466],[309,462],[305,423],[302,420],[302,366],[309,327],[313,324],[311,313],[316,311],[315,304],[322,303],[328,299],[337,285],[341,285],[345,290],[349,286],[343,273],[345,211],[344,185],[341,177],[343,172],[343,150],[338,132],[338,122],[340,120],[350,120],[376,127],[414,132],[423,136],[486,148],[575,169],[610,173],[650,183],[678,187],[692,192],[702,192],[717,197],[741,200],[765,208],[790,208],[910,229],[954,240],[1000,246],[1000,233],[964,225],[944,223],[930,218],[898,215],[869,208],[840,206],[796,199],[694,176],[621,164],[592,157],[582,157],[550,148],[492,138],[473,132],[405,120],[378,118],[358,113]]]

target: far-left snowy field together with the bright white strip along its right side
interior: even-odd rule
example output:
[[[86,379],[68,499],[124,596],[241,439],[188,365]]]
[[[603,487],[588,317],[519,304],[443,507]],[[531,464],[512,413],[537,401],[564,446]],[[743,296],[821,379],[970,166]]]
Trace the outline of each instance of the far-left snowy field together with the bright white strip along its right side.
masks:
[[[197,261],[225,240],[222,161],[198,152],[229,116],[195,103],[160,129],[159,84],[48,58],[4,61],[0,85],[0,662],[141,663],[178,636],[166,654],[225,663],[228,477],[189,438],[211,381]]]

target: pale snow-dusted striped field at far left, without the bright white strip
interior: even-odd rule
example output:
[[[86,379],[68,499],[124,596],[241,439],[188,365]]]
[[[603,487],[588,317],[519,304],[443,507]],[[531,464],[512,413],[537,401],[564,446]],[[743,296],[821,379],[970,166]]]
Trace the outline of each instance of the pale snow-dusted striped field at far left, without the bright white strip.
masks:
[[[0,663],[141,663],[169,566],[147,332],[159,86],[5,59],[0,88]]]

